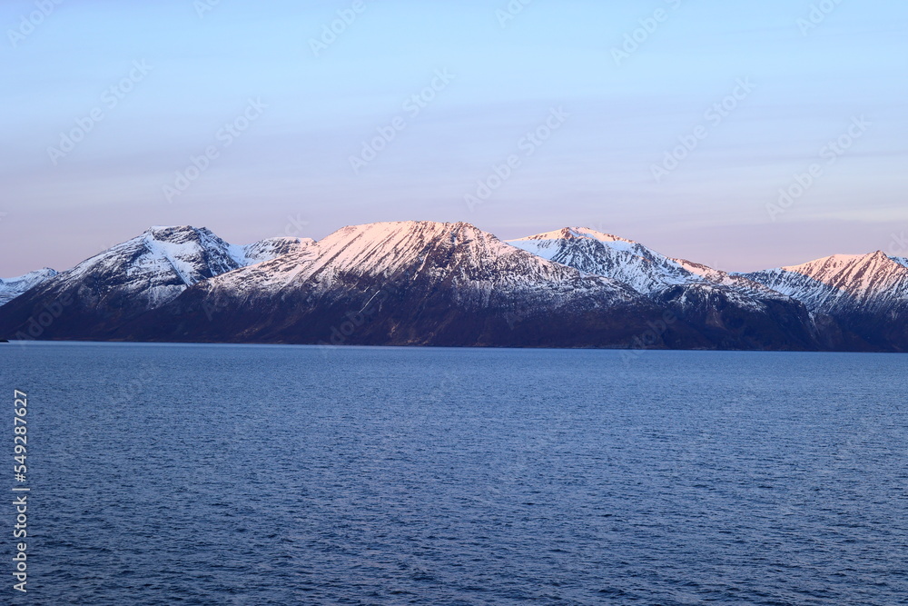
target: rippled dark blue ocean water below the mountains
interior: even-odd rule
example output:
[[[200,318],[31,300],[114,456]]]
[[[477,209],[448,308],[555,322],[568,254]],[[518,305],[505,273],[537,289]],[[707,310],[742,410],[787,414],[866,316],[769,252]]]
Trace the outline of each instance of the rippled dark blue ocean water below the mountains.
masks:
[[[885,354],[4,344],[32,492],[29,591],[9,504],[2,591],[908,603],[906,377]]]

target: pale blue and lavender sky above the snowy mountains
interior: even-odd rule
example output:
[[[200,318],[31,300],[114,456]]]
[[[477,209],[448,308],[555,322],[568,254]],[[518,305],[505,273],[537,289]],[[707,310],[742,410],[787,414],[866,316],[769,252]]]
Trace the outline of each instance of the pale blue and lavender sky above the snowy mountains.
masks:
[[[0,29],[0,276],[166,224],[908,255],[902,0],[7,0]]]

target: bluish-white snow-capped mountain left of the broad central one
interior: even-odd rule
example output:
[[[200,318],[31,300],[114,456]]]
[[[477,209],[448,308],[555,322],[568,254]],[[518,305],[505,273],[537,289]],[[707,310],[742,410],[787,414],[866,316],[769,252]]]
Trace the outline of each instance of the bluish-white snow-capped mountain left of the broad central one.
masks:
[[[16,327],[14,333],[29,327],[31,333],[87,338],[172,301],[194,283],[311,242],[274,238],[237,246],[205,228],[152,227],[21,293],[3,306],[2,319]],[[62,308],[65,313],[54,313],[53,322],[42,315]]]

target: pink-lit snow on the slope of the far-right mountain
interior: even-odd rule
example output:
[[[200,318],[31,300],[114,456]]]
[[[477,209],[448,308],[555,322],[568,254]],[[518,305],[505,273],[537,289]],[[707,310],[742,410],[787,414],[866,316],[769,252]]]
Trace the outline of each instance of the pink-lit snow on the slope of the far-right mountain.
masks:
[[[814,312],[880,313],[908,303],[908,266],[881,251],[834,254],[744,275],[801,301]]]

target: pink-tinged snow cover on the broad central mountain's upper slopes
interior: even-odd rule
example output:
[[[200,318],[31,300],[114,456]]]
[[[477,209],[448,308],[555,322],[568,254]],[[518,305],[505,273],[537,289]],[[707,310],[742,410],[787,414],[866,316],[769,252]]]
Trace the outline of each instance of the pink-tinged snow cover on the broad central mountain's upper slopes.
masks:
[[[261,291],[303,283],[331,287],[354,279],[427,279],[469,286],[487,294],[544,286],[552,293],[570,289],[609,293],[617,300],[637,298],[607,277],[585,276],[520,251],[470,224],[405,221],[341,228],[305,249],[219,276],[212,288]]]

